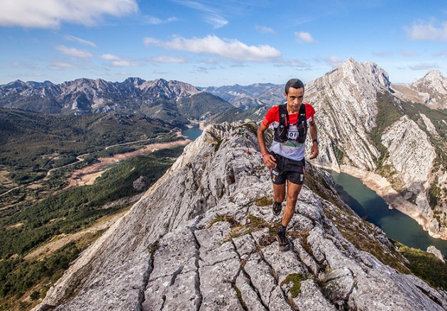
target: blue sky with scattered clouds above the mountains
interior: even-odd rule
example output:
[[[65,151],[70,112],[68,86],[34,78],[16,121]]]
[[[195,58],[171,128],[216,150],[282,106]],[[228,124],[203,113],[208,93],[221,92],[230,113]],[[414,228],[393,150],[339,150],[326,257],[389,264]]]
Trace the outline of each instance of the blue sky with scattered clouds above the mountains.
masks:
[[[0,0],[0,84],[305,83],[347,58],[447,75],[447,1]]]

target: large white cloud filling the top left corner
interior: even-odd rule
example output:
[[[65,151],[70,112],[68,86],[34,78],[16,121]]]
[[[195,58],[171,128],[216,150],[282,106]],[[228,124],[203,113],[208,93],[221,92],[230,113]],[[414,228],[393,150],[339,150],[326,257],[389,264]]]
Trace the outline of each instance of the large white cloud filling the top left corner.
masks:
[[[0,25],[58,28],[62,22],[85,26],[104,15],[123,16],[138,11],[136,0],[1,0]]]

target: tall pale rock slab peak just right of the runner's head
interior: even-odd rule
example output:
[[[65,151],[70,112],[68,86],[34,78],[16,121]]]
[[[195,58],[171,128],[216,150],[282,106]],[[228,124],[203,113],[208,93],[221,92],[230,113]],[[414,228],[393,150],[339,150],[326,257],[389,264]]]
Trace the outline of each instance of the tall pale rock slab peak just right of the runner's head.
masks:
[[[373,62],[359,63],[352,58],[306,85],[306,101],[317,111],[321,146],[326,152],[321,163],[338,170],[336,146],[346,151],[346,162],[362,170],[374,170],[379,151],[368,143],[375,126],[377,92],[387,92],[387,73]],[[365,143],[359,143],[365,142]]]

